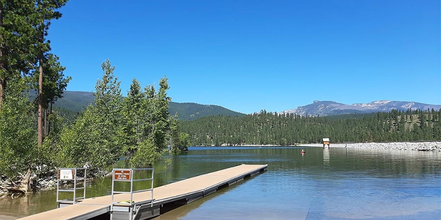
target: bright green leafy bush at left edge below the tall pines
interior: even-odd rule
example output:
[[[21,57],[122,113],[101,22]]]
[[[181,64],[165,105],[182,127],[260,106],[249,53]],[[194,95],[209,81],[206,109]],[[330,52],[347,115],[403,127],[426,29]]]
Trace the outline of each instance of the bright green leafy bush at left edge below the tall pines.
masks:
[[[0,110],[0,174],[25,172],[36,162],[35,118],[23,93],[25,82],[13,78],[8,83]]]

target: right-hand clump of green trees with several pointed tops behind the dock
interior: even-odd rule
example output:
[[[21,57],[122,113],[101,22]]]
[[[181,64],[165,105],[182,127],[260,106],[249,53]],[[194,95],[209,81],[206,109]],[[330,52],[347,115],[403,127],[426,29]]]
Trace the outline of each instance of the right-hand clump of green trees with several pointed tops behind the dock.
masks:
[[[139,82],[134,79],[127,97],[123,99],[119,135],[123,156],[132,166],[142,164],[142,157],[148,158],[151,163],[167,149],[174,119],[168,113],[170,98],[167,96],[169,86],[166,77],[159,81],[159,86],[156,91],[148,85],[142,92]]]

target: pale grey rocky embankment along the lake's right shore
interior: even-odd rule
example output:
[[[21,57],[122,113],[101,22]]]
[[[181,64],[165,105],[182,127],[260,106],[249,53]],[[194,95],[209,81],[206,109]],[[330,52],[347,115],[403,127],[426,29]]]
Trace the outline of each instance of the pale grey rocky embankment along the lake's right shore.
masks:
[[[441,141],[331,144],[330,147],[441,152]]]

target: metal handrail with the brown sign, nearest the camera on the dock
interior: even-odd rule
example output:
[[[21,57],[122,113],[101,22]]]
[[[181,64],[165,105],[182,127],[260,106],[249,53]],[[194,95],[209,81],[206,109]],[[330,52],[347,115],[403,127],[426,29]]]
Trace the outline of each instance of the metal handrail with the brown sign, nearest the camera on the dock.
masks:
[[[134,171],[151,171],[151,178],[133,179]],[[120,173],[116,174],[116,172],[120,172]],[[127,176],[127,174],[128,174],[128,176]],[[150,205],[153,206],[153,176],[154,176],[154,169],[153,168],[137,168],[137,169],[117,169],[117,168],[114,168],[112,171],[112,196],[111,196],[111,203],[110,203],[111,204],[110,205],[110,219],[112,219],[114,205],[124,205],[125,206],[125,204],[121,204],[119,202],[114,202],[115,194],[130,194],[130,200],[129,200],[129,204],[127,204],[127,206],[130,206],[130,207],[134,206],[133,211],[135,211],[135,216],[136,216],[136,213],[138,210],[136,209],[136,203],[133,203],[133,194],[134,193],[151,191],[151,199],[150,199],[151,204]],[[133,182],[147,181],[147,180],[151,180],[150,188],[147,188],[144,190],[133,191]],[[115,191],[115,182],[120,182],[120,181],[122,181],[122,182],[130,181],[130,191]],[[129,211],[130,211],[130,215],[129,215],[130,219],[132,219],[133,213],[131,210],[129,210]]]

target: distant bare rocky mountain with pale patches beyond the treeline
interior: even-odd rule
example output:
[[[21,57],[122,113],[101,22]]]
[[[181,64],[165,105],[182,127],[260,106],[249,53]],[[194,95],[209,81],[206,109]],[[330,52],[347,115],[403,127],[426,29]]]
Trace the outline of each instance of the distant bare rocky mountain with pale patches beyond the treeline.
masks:
[[[440,110],[441,105],[429,105],[418,102],[402,102],[402,101],[373,101],[369,103],[356,103],[346,105],[334,101],[314,101],[314,103],[298,107],[297,109],[284,110],[278,113],[297,114],[297,115],[312,115],[312,116],[326,116],[338,114],[353,114],[353,113],[372,113],[378,111],[391,110]]]

